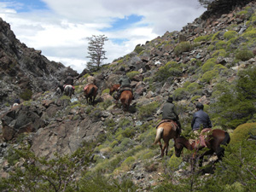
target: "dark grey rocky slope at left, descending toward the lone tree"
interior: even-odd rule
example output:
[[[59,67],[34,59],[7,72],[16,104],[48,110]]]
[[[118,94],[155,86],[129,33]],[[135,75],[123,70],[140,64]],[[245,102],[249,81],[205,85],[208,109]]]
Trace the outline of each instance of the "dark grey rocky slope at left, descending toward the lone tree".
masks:
[[[67,73],[78,75],[61,63],[49,61],[40,50],[26,47],[0,18],[0,102],[12,104],[24,91],[52,90]],[[69,71],[69,72],[68,72]],[[3,108],[3,105],[1,105]]]

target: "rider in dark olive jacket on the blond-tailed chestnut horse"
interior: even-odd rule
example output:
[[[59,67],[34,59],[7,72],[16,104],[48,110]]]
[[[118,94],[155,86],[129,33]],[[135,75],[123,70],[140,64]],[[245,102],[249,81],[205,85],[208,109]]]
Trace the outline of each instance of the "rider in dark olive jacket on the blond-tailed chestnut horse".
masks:
[[[172,96],[169,96],[166,103],[164,104],[164,107],[162,108],[162,119],[169,119],[175,121],[179,129],[181,129],[181,124],[179,122],[177,114],[177,108],[172,102]]]

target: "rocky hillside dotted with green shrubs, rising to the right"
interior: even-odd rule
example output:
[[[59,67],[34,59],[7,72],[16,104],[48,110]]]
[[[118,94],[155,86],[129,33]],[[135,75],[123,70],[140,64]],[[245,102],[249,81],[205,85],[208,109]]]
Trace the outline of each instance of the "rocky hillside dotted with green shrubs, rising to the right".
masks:
[[[131,54],[94,73],[99,91],[93,106],[83,96],[87,74],[76,80],[71,99],[42,87],[43,80],[58,82],[67,69],[20,44],[2,20],[1,41],[6,42],[0,56],[6,63],[1,65],[1,84],[6,87],[1,97],[2,108],[5,105],[1,118],[2,177],[9,177],[16,166],[27,166],[25,157],[15,155],[15,149],[24,148],[21,143],[36,157],[47,160],[55,159],[55,154],[73,154],[86,143],[85,148],[92,145],[89,162],[73,174],[74,180],[79,180],[79,171],[85,169],[87,172],[81,173],[84,177],[95,177],[96,173],[119,181],[129,177],[137,190],[154,190],[165,181],[165,175],[186,177],[189,172],[185,166],[188,155],[176,158],[172,141],[163,159],[160,148],[151,146],[168,96],[174,98],[185,135],[191,129],[196,102],[205,105],[214,128],[230,134],[238,125],[255,122],[256,3],[224,1],[227,4],[216,9],[219,2],[180,32],[166,32],[138,44]],[[134,92],[128,112],[109,95],[109,87],[123,72],[131,79]],[[5,93],[15,88],[17,92],[32,90],[32,99],[8,108],[11,101]],[[253,131],[251,134],[256,134]]]

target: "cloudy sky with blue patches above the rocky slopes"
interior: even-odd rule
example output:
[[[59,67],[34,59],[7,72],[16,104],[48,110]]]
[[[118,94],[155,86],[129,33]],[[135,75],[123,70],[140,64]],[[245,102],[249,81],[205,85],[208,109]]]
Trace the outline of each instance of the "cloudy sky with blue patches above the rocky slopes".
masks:
[[[108,37],[106,62],[112,62],[204,11],[197,0],[0,0],[0,17],[20,42],[79,73],[92,35]]]

